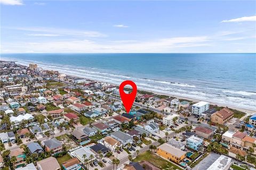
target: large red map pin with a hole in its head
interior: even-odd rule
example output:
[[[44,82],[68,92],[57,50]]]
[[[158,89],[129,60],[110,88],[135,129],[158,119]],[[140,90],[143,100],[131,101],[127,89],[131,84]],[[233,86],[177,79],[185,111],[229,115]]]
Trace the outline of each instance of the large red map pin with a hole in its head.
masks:
[[[130,94],[126,94],[124,92],[124,86],[126,86],[126,85],[132,86],[132,92]],[[132,104],[133,104],[136,94],[137,94],[137,86],[131,80],[125,80],[119,86],[119,93],[120,93],[121,99],[123,101],[124,108],[128,114],[129,111],[131,110]]]

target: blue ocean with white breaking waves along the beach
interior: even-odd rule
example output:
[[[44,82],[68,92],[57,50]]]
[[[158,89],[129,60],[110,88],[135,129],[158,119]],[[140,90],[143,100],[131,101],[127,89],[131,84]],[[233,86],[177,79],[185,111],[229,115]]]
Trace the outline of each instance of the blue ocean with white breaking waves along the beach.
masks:
[[[140,90],[256,110],[254,53],[1,54],[1,60],[120,84]]]

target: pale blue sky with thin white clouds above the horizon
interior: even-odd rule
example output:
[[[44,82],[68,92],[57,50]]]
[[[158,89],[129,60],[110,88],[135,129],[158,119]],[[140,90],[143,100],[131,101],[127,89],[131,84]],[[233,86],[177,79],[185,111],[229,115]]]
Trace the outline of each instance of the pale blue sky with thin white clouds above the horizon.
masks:
[[[255,53],[256,1],[0,0],[1,53]]]

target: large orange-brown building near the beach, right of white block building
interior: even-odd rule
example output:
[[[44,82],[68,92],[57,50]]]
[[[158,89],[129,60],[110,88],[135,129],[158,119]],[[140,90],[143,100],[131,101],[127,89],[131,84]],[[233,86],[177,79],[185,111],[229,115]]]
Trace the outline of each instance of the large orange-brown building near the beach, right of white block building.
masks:
[[[231,120],[234,116],[234,112],[230,111],[228,108],[223,108],[220,111],[215,112],[211,116],[211,122],[225,125],[229,120]]]

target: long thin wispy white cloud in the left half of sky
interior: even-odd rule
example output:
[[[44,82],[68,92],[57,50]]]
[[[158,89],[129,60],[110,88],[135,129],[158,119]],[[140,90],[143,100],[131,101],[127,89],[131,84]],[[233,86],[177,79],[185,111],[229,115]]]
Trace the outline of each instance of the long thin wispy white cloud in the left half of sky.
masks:
[[[48,27],[18,27],[10,28],[23,31],[35,31],[38,35],[47,33],[61,36],[76,36],[76,37],[106,37],[107,35],[99,33],[98,31],[87,30],[74,30],[74,29],[62,29],[62,28],[48,28]]]

